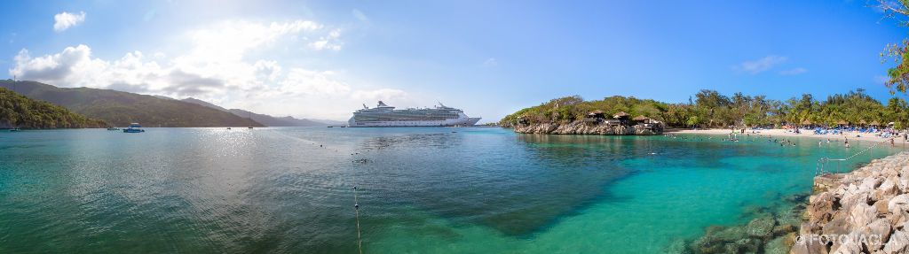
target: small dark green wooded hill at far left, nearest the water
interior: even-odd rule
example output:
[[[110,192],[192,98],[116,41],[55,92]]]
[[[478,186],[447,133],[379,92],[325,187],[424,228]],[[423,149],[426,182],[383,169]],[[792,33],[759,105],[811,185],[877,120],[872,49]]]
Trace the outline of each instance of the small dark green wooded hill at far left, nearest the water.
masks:
[[[0,128],[102,128],[106,125],[103,121],[89,119],[64,107],[35,101],[0,88]]]

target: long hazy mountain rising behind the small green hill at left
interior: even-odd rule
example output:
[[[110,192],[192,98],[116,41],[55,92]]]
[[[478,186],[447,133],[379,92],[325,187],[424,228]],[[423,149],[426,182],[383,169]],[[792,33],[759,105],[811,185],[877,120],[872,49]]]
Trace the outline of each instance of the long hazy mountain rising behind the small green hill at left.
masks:
[[[152,95],[85,87],[60,88],[45,83],[12,80],[0,81],[0,87],[115,126],[125,126],[130,122],[148,127],[263,126],[230,112]]]

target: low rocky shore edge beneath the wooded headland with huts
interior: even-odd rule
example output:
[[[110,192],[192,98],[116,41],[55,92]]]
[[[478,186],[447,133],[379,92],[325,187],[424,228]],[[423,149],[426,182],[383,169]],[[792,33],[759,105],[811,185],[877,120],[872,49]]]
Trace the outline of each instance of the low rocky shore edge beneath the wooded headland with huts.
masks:
[[[646,128],[644,125],[608,125],[590,122],[553,122],[516,124],[514,132],[536,134],[597,134],[597,135],[659,135],[662,128]]]

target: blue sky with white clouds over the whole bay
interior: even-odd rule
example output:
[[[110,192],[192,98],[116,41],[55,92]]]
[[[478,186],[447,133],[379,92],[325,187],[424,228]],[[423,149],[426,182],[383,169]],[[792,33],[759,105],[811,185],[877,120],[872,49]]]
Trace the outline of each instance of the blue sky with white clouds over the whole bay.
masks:
[[[345,121],[437,103],[481,122],[551,99],[701,89],[890,98],[907,36],[854,1],[5,1],[0,69],[61,87]],[[0,74],[3,75],[3,74]],[[903,96],[904,95],[899,95]]]

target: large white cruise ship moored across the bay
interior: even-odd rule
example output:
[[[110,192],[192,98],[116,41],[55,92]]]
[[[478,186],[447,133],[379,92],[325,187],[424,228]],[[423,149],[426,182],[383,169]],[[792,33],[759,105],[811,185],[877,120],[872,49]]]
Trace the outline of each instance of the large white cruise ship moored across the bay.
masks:
[[[379,101],[375,108],[364,104],[347,124],[349,127],[473,126],[479,121],[479,117],[468,117],[464,111],[442,103],[433,108],[395,110]]]

